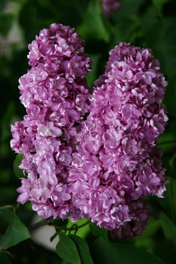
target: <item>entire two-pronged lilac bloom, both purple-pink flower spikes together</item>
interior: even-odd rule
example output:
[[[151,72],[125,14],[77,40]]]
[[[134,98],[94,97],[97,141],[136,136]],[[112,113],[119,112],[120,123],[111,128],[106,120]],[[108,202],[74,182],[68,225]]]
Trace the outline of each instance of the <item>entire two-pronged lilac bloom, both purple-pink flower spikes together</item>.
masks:
[[[157,149],[168,120],[159,62],[150,49],[120,43],[91,95],[92,61],[74,29],[52,24],[29,49],[32,67],[19,80],[27,114],[11,127],[27,174],[17,201],[30,200],[44,218],[91,218],[112,236],[140,235],[143,198],[163,197],[168,183]]]

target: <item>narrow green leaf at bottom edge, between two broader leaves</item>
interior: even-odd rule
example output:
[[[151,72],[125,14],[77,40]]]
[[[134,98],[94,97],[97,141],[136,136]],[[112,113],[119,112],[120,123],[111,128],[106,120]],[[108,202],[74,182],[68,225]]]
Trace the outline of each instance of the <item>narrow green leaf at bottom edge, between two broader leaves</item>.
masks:
[[[93,260],[91,258],[91,255],[89,253],[89,247],[86,243],[86,241],[79,236],[76,235],[69,235],[69,237],[74,241],[78,253],[80,255],[81,263],[82,264],[94,264]]]

